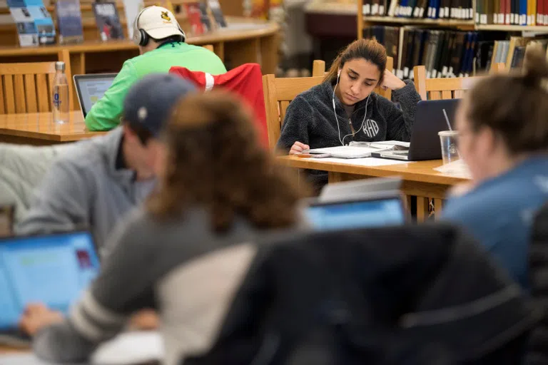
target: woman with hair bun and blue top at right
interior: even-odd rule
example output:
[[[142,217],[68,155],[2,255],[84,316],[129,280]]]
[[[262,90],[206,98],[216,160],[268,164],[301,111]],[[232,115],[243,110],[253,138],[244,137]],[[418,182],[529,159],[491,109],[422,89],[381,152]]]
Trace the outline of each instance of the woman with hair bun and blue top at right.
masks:
[[[527,288],[535,212],[548,200],[548,64],[530,46],[519,74],[478,81],[457,110],[460,155],[472,182],[443,215],[460,222]]]

